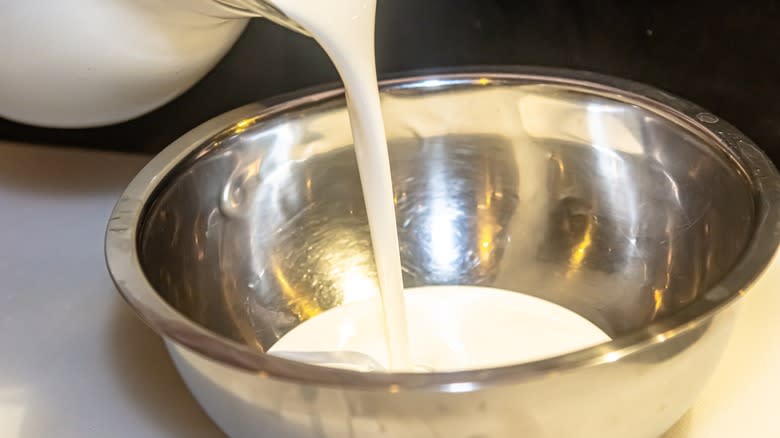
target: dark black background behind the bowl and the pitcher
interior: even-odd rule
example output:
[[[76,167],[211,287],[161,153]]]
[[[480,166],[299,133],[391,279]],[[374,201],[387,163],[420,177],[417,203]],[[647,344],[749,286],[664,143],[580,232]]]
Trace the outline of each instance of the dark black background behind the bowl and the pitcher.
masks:
[[[380,76],[485,64],[621,76],[708,108],[780,162],[779,1],[379,0],[377,16]],[[312,40],[254,20],[204,80],[153,113],[85,130],[0,119],[0,138],[156,152],[219,113],[337,79]]]

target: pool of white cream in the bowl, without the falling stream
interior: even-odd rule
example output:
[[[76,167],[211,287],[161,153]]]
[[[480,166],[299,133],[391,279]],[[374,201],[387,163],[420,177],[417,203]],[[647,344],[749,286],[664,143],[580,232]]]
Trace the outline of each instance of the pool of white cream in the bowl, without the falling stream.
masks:
[[[511,365],[610,340],[571,310],[517,292],[430,286],[408,289],[405,299],[413,371]],[[269,352],[320,365],[386,370],[389,363],[380,312],[378,300],[336,307],[294,328]]]

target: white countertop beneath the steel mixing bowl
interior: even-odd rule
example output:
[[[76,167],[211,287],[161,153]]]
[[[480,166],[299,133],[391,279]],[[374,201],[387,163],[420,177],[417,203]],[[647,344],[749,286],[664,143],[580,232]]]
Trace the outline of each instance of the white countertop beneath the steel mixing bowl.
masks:
[[[223,436],[106,272],[108,215],[146,159],[0,143],[0,436]],[[780,259],[773,266],[665,438],[780,436]]]

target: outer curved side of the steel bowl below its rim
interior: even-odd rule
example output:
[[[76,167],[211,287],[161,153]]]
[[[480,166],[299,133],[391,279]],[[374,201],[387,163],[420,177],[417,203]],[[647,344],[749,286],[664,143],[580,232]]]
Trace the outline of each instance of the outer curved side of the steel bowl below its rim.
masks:
[[[467,383],[394,394],[300,385],[166,344],[195,398],[236,438],[657,438],[709,379],[737,308],[619,361],[477,390]]]

